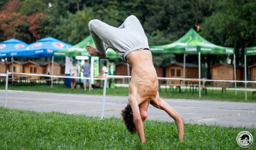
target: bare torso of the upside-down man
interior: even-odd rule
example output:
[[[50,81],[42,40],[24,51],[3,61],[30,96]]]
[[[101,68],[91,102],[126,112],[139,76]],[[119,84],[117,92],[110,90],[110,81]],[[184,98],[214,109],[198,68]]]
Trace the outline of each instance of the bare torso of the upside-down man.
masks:
[[[136,50],[127,55],[127,62],[132,66],[129,95],[136,97],[140,111],[147,111],[149,103],[155,100],[158,91],[157,72],[152,62],[152,54],[149,50]]]

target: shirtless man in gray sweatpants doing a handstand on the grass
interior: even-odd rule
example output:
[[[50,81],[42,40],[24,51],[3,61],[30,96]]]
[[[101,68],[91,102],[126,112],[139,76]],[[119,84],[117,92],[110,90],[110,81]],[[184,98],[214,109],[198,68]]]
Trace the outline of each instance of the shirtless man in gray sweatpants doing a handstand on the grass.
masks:
[[[129,83],[128,104],[122,110],[124,123],[131,133],[138,132],[140,142],[145,142],[143,122],[147,118],[147,108],[151,104],[166,111],[176,123],[178,139],[183,140],[183,118],[168,103],[159,98],[157,72],[153,66],[148,40],[140,21],[129,16],[119,27],[112,27],[99,20],[89,22],[89,31],[95,47],[87,44],[90,55],[106,58],[106,50],[111,47],[132,66]]]

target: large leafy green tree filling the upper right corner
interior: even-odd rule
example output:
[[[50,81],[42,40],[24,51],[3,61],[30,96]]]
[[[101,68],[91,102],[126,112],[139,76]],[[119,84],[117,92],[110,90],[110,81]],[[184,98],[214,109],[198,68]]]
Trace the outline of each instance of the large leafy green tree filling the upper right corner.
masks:
[[[244,48],[256,45],[256,1],[221,0],[217,8],[202,24],[201,33],[212,43],[234,47],[237,64],[244,64]],[[255,61],[249,58],[249,64]]]

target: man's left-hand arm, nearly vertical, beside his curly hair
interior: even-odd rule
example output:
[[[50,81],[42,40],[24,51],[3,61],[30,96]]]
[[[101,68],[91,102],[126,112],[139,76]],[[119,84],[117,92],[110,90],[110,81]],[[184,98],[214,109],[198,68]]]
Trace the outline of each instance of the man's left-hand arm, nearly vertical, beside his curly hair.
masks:
[[[133,123],[135,124],[137,133],[140,138],[140,142],[144,143],[145,142],[144,126],[143,126],[142,119],[140,117],[140,110],[139,110],[138,102],[134,96],[129,96],[128,102],[129,102],[130,106],[132,107]]]

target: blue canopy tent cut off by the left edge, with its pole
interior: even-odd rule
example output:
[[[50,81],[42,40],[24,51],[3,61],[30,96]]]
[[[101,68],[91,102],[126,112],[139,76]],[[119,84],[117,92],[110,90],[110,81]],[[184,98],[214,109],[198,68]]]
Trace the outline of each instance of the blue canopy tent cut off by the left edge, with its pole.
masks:
[[[27,44],[20,40],[17,40],[14,38],[5,40],[0,43],[0,58],[13,57],[12,55],[14,53],[12,53],[11,51],[18,51],[25,47],[27,47]],[[13,71],[13,58],[12,58],[12,71]],[[13,78],[13,74],[12,74],[12,78]]]

